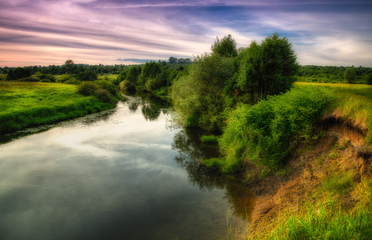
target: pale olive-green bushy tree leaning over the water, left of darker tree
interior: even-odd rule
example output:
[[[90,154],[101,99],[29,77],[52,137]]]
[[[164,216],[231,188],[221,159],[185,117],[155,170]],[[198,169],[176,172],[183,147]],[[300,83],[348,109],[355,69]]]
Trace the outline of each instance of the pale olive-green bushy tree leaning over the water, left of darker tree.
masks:
[[[175,108],[184,116],[198,119],[197,125],[201,128],[210,131],[221,129],[223,90],[225,81],[231,78],[234,72],[232,59],[218,54],[204,54],[194,59],[194,64],[188,71],[188,75],[176,77],[173,82],[172,97]]]

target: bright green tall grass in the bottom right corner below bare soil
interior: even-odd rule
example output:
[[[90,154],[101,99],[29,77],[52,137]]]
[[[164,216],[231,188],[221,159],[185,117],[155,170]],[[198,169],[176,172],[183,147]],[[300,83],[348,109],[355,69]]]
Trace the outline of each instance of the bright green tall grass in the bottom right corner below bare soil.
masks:
[[[302,216],[290,216],[266,239],[372,239],[372,214],[358,208],[348,213],[337,202],[307,207]]]

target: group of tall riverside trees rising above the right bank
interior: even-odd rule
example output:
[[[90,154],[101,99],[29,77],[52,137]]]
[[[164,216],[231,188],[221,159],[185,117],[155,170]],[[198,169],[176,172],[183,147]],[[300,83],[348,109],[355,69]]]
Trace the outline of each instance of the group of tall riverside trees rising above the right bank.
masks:
[[[231,35],[217,37],[211,53],[196,56],[187,75],[174,81],[172,97],[186,126],[221,130],[224,111],[288,90],[298,69],[286,37],[278,33],[240,49]]]

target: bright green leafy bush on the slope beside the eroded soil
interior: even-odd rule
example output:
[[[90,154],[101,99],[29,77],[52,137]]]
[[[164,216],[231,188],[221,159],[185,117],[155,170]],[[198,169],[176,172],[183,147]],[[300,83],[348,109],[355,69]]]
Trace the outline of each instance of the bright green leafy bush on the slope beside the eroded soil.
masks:
[[[239,105],[228,114],[218,141],[226,164],[238,166],[243,158],[270,168],[282,164],[292,140],[321,116],[331,100],[325,88],[301,87],[253,106]]]

